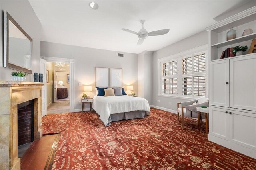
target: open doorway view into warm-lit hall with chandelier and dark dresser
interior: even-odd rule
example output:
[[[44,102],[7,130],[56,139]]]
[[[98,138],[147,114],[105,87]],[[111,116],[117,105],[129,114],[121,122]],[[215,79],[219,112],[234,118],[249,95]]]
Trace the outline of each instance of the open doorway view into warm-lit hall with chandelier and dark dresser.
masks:
[[[47,114],[70,112],[70,63],[47,62]]]

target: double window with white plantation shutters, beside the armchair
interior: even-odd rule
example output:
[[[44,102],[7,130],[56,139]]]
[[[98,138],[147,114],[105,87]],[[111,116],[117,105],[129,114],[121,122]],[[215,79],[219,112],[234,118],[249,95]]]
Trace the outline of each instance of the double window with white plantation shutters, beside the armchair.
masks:
[[[176,54],[169,60],[160,59],[160,94],[190,98],[206,96],[206,51],[193,52]]]

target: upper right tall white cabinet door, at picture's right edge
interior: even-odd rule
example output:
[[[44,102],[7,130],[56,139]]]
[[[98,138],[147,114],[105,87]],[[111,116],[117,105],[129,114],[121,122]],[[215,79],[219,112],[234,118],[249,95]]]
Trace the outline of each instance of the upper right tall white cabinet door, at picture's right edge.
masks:
[[[256,111],[256,55],[230,59],[230,107]]]

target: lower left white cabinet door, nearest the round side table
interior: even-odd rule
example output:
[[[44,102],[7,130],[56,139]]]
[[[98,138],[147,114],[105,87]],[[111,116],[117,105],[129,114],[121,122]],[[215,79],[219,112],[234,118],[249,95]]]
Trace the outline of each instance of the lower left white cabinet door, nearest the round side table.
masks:
[[[229,140],[228,121],[227,109],[209,108],[209,132],[211,135]]]

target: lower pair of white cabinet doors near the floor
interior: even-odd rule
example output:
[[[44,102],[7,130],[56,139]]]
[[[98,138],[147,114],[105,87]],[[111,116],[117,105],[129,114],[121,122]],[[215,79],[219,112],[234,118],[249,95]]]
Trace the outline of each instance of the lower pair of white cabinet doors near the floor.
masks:
[[[215,107],[209,113],[211,135],[256,151],[256,114]]]

